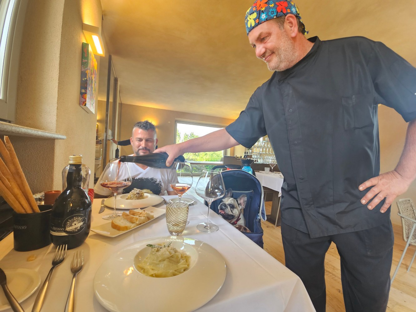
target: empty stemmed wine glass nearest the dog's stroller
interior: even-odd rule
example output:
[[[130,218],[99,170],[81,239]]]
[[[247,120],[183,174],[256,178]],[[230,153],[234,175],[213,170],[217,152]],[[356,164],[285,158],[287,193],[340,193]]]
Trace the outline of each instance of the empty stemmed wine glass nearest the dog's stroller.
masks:
[[[207,222],[200,223],[196,228],[202,232],[212,233],[218,231],[218,225],[209,223],[209,212],[211,203],[225,195],[225,186],[223,176],[220,172],[214,170],[203,170],[196,183],[195,191],[198,196],[208,202]]]

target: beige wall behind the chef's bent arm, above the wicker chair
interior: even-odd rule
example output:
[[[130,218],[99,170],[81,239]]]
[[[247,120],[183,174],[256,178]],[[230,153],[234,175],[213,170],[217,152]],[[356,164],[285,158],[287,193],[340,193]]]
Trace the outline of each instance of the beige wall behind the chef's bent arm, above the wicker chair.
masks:
[[[380,172],[394,170],[403,151],[406,139],[407,123],[394,110],[387,106],[379,106],[379,130],[380,130]],[[411,198],[416,202],[416,181],[413,181],[406,193],[400,195],[401,198]],[[401,224],[400,217],[397,215],[396,201],[391,205],[391,222]]]

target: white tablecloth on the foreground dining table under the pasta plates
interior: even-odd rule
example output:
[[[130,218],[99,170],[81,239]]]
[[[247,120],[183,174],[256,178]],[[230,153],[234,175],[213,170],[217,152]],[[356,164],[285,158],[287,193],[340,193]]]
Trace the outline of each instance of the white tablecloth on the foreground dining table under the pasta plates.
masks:
[[[165,196],[165,198],[171,197]],[[109,213],[110,210],[106,209],[102,215],[99,215],[100,204],[101,200],[94,200],[92,226],[108,222],[102,219],[102,215]],[[164,208],[165,206],[158,207]],[[245,235],[238,232],[223,218],[215,213],[210,213],[210,219],[220,227],[220,230],[215,233],[199,232],[196,225],[206,221],[207,211],[208,207],[202,204],[194,204],[190,207],[190,223],[183,236],[204,241],[218,250],[225,259],[227,276],[220,292],[206,305],[199,308],[198,312],[314,311],[299,277],[246,238]],[[115,238],[90,232],[85,243],[74,249],[84,250],[85,255],[84,268],[77,277],[75,311],[106,311],[95,299],[93,291],[94,275],[104,260],[124,246],[136,241],[168,235],[164,216]],[[27,268],[36,270],[40,273],[43,283],[50,270],[54,250],[54,246],[50,245],[39,250],[17,252],[13,250],[13,235],[10,234],[0,242],[0,267],[2,269]],[[64,310],[72,279],[70,263],[74,250],[69,250],[64,262],[55,268],[42,312]],[[28,262],[27,257],[30,255],[36,255],[36,259]],[[37,292],[35,291],[22,303],[26,311],[32,309]],[[161,300],[163,300],[163,295],[161,295]],[[131,311],[136,310],[140,311],[140,307],[131,307]],[[11,312],[12,310],[6,311]]]

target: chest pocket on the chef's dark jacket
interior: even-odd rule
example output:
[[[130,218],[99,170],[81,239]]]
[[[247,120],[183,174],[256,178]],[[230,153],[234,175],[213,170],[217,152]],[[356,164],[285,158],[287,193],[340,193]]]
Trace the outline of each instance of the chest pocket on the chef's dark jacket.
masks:
[[[342,97],[344,129],[360,129],[374,126],[374,97],[372,94],[357,94]]]

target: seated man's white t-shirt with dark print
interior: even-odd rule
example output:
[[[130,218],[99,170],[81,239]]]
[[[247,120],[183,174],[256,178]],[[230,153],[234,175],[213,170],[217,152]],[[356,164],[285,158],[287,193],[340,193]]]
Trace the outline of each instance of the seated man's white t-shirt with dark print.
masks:
[[[178,183],[176,170],[172,170],[171,168],[158,169],[147,167],[146,169],[142,169],[137,166],[136,163],[126,164],[129,167],[132,183],[131,186],[124,188],[124,194],[130,193],[133,188],[139,188],[141,190],[148,189],[156,195],[166,195],[166,191],[173,191],[171,183]],[[103,174],[104,172],[101,174],[95,185],[94,192],[100,195],[111,195],[112,192],[108,188],[104,188],[99,184]],[[122,168],[120,168],[119,176],[121,178],[125,176],[125,171],[123,171]]]

